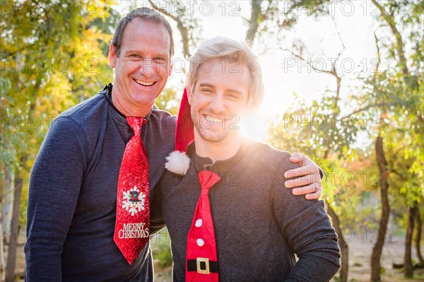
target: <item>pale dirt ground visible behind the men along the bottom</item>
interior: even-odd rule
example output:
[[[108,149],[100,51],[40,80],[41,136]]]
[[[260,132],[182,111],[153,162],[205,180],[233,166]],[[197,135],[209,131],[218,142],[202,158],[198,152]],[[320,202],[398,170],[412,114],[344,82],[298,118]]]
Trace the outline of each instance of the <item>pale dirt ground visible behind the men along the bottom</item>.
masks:
[[[374,242],[370,235],[363,233],[353,233],[355,235],[346,236],[349,245],[349,281],[367,282],[370,281],[370,257]],[[424,250],[422,251],[424,253]],[[416,252],[413,249],[413,259],[416,259]],[[424,269],[416,269],[413,279],[404,278],[403,269],[393,269],[392,264],[402,264],[404,260],[404,238],[393,237],[391,242],[384,244],[382,253],[382,266],[384,274],[382,281],[387,282],[406,282],[406,281],[424,281]],[[23,246],[18,249],[18,261],[16,264],[16,281],[23,281],[25,261],[23,257]],[[336,275],[337,276],[337,275]],[[160,269],[155,265],[155,281],[171,281],[171,270]],[[334,278],[332,281],[338,281]]]

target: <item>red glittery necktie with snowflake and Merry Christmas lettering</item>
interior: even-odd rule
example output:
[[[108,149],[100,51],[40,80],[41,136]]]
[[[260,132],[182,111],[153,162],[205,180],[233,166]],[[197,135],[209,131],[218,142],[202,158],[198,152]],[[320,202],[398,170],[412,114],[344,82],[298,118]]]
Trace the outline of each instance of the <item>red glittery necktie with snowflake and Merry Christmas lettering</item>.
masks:
[[[149,239],[148,161],[141,140],[142,117],[126,117],[134,136],[126,143],[117,192],[117,219],[113,240],[132,264]]]

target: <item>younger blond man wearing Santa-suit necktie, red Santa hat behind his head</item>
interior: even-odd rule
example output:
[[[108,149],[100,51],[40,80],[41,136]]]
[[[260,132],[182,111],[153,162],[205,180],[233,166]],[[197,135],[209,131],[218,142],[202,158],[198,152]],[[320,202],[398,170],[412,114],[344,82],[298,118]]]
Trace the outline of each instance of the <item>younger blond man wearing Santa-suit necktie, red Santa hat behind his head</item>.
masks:
[[[290,153],[245,139],[234,122],[263,97],[257,58],[216,37],[190,62],[176,149],[186,151],[193,133],[194,143],[188,157],[167,158],[151,214],[169,230],[174,281],[329,281],[340,254],[323,201],[282,189],[297,167]]]

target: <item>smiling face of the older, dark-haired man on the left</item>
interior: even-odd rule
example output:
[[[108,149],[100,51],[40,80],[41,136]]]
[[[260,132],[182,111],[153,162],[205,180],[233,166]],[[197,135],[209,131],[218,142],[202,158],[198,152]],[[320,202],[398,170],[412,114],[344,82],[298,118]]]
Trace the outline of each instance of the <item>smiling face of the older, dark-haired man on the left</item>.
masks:
[[[150,109],[171,74],[170,33],[160,23],[134,18],[126,25],[119,54],[110,47],[114,102],[126,112]]]

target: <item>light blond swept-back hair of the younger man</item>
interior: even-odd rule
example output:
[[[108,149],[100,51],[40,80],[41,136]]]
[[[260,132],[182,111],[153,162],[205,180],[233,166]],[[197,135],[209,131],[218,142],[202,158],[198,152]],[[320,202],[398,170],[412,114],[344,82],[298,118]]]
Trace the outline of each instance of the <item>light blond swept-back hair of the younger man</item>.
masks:
[[[211,59],[225,59],[247,66],[250,73],[249,102],[253,109],[257,109],[264,98],[264,82],[259,60],[253,54],[251,45],[228,37],[213,37],[204,41],[190,58],[186,86],[191,93],[196,87],[202,64]]]

